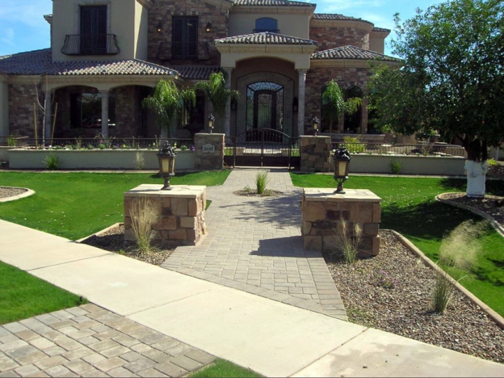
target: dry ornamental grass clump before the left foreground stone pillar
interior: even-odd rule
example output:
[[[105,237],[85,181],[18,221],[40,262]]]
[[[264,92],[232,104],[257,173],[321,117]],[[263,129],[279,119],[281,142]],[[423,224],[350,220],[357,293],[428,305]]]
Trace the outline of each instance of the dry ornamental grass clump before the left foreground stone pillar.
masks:
[[[152,252],[152,240],[155,233],[152,226],[159,222],[161,217],[159,204],[142,197],[134,199],[129,209],[131,217],[131,229],[135,233],[136,244],[138,245],[138,255]]]

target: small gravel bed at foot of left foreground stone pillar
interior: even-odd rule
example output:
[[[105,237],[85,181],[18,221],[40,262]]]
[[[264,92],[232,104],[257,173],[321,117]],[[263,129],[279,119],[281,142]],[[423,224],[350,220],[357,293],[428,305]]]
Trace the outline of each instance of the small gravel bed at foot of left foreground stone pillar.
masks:
[[[81,243],[105,249],[109,252],[115,252],[131,258],[136,258],[137,260],[144,261],[145,263],[152,265],[161,265],[164,263],[177,247],[177,245],[172,245],[166,248],[153,247],[152,252],[149,254],[138,254],[136,243],[124,241],[123,224],[113,227],[108,231],[104,231],[98,236],[91,236],[90,238],[83,240]]]

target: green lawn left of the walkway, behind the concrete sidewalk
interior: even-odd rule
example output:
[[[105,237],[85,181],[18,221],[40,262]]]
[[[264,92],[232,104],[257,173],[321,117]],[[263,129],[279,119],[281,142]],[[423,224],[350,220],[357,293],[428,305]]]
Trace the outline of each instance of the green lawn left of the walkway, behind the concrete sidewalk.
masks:
[[[222,185],[229,170],[176,174],[172,185]],[[142,183],[162,184],[153,174],[2,172],[0,186],[35,190],[0,203],[0,218],[71,240],[124,220],[123,193]]]

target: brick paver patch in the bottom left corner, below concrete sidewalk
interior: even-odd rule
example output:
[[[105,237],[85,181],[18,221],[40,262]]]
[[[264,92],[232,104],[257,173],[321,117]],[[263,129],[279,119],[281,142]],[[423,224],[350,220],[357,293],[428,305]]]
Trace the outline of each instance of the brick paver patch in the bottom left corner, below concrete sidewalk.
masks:
[[[181,377],[215,359],[95,304],[0,326],[0,377]]]

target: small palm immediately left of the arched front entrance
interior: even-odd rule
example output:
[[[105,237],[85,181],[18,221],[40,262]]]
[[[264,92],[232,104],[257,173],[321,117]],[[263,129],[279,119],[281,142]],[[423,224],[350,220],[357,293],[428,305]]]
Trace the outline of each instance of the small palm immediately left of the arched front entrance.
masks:
[[[226,106],[229,99],[238,99],[240,92],[226,88],[227,77],[224,72],[212,72],[209,81],[196,83],[195,89],[202,90],[212,104],[213,111],[218,117],[219,129],[222,130],[220,120],[226,115]]]

